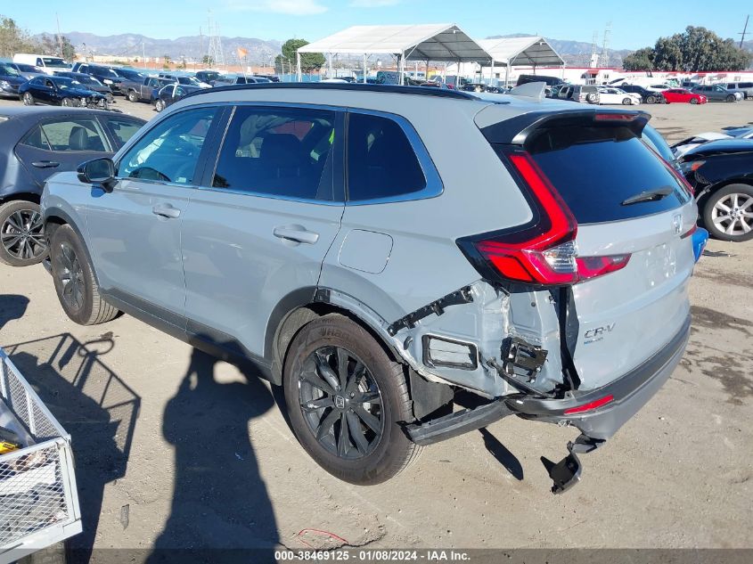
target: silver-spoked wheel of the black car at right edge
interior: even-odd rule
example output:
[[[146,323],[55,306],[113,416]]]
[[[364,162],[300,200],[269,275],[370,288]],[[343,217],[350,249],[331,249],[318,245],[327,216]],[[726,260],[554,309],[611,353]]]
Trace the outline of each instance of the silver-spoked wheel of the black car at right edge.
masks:
[[[753,186],[729,184],[712,192],[703,204],[703,224],[715,239],[735,242],[753,239]]]

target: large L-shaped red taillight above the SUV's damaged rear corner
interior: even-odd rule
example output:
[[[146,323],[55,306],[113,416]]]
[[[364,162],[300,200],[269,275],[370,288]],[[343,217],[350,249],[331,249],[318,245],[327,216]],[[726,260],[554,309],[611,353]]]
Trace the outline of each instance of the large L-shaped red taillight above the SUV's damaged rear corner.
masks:
[[[507,158],[535,200],[541,218],[537,225],[520,232],[459,241],[462,249],[470,243],[478,252],[485,263],[479,271],[492,266],[505,280],[562,285],[626,266],[630,255],[577,257],[577,222],[568,205],[528,153],[513,152]]]

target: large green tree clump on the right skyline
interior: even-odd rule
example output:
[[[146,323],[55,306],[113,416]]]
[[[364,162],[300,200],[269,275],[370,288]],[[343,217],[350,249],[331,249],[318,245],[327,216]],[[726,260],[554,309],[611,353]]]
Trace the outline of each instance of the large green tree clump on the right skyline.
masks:
[[[744,51],[732,39],[722,39],[706,28],[688,26],[684,33],[659,37],[656,45],[639,49],[624,60],[626,70],[680,70],[703,72],[742,70],[750,65],[753,53]]]

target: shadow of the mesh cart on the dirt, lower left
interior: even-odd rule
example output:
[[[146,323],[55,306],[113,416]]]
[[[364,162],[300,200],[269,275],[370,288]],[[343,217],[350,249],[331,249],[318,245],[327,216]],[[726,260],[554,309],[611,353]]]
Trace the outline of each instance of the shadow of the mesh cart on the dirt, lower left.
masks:
[[[100,360],[111,334],[81,343],[69,333],[5,346],[13,364],[70,433],[84,527],[69,561],[88,562],[106,484],[126,475],[141,397]]]

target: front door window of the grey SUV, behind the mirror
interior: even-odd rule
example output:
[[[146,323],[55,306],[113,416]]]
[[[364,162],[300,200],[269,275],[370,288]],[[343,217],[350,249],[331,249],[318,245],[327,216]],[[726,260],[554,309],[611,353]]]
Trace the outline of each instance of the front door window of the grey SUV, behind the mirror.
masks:
[[[152,127],[118,163],[120,178],[192,184],[216,108],[196,108]]]

